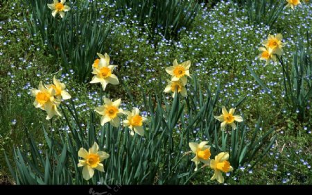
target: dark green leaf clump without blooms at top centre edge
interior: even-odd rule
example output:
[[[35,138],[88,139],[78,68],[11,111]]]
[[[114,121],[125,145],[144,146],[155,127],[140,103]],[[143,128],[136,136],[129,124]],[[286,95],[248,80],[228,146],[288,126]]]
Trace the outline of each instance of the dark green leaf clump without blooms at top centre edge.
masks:
[[[159,29],[167,38],[176,37],[183,27],[188,28],[200,9],[194,0],[116,0],[115,3],[123,15],[130,15],[141,26],[149,24],[151,36]]]

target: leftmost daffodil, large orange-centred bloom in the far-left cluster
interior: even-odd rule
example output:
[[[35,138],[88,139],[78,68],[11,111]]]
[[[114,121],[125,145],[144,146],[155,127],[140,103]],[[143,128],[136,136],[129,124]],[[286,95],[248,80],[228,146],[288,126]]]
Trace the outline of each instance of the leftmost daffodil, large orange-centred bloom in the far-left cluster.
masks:
[[[55,90],[53,87],[47,89],[40,81],[38,90],[32,89],[31,95],[35,96],[35,101],[33,102],[35,108],[41,108],[48,114],[46,116],[47,120],[51,119],[55,115],[62,116],[58,111],[60,99],[55,98]]]

